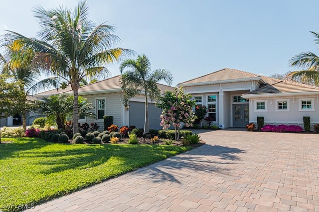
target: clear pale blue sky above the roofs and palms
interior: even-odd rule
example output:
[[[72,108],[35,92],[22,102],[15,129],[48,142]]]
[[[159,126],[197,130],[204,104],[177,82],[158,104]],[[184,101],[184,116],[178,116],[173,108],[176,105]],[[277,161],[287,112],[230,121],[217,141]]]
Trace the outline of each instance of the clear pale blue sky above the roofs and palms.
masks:
[[[1,1],[4,29],[28,37],[38,25],[32,7],[77,0]],[[294,71],[288,61],[298,53],[318,53],[318,0],[88,0],[90,19],[117,27],[118,46],[146,54],[153,69],[168,69],[173,84],[223,68],[270,75]],[[118,65],[110,66],[118,75]]]

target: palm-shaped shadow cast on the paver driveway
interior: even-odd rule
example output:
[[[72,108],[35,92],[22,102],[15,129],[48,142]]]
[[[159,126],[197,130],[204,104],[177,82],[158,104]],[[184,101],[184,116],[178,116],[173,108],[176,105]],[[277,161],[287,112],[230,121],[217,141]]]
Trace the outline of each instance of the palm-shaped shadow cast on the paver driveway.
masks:
[[[199,173],[230,175],[231,169],[227,167],[227,164],[240,161],[239,155],[236,155],[240,153],[246,153],[246,151],[228,146],[205,144],[186,152],[183,154],[185,156],[179,155],[169,158],[140,172],[146,174],[153,182],[158,183],[166,181],[180,183],[177,177],[196,177]],[[214,157],[209,156],[217,156],[218,160],[214,160]]]

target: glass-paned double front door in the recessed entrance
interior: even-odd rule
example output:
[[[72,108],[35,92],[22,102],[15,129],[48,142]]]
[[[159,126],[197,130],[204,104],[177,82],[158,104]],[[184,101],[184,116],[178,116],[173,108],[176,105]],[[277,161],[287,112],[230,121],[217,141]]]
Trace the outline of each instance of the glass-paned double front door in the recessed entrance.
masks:
[[[233,127],[246,127],[249,122],[249,104],[233,105]]]

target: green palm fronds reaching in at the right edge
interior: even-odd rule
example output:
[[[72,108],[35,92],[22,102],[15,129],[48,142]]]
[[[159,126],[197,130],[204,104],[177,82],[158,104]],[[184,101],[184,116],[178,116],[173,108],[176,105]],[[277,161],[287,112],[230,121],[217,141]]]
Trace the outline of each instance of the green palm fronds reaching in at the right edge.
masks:
[[[315,44],[319,44],[319,34],[311,32],[315,36]],[[311,85],[319,85],[319,57],[312,52],[303,52],[294,56],[290,61],[292,67],[301,68],[302,71],[292,71],[287,79],[301,81]]]

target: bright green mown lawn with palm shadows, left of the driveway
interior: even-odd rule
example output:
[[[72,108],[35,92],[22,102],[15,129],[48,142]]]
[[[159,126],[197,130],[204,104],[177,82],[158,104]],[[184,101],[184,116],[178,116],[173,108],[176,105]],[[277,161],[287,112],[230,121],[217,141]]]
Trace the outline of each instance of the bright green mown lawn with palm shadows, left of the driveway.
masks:
[[[0,144],[0,210],[39,204],[189,150],[172,145],[63,144],[11,138]]]

